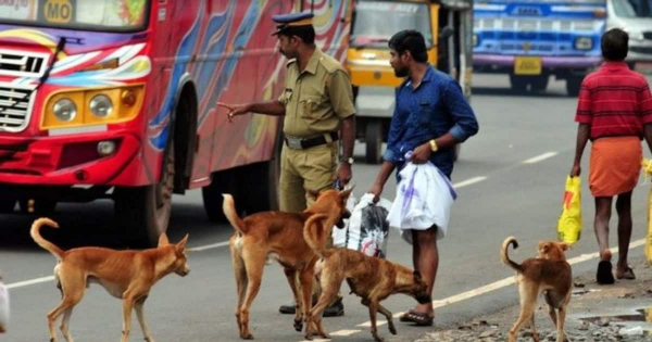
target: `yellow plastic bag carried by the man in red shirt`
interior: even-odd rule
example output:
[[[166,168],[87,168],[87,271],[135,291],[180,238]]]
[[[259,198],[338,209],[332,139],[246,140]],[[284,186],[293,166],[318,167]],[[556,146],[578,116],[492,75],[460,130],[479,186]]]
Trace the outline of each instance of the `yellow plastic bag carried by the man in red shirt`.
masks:
[[[580,187],[581,180],[579,177],[568,176],[566,178],[562,215],[557,221],[557,238],[560,241],[570,244],[579,241],[579,237],[581,236]]]

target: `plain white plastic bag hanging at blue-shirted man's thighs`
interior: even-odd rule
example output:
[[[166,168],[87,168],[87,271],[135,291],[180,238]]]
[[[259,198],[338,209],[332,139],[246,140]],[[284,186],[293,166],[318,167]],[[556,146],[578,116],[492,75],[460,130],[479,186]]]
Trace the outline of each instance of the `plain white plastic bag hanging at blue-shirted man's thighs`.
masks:
[[[448,231],[451,205],[457,193],[451,181],[432,163],[408,163],[400,172],[397,198],[389,211],[391,227],[412,244],[411,229],[426,230],[437,226],[437,239]]]

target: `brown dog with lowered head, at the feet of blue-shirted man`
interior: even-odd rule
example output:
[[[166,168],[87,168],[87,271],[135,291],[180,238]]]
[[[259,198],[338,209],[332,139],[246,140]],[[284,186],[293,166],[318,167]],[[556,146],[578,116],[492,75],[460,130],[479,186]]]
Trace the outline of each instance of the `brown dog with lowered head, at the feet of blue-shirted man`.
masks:
[[[376,341],[383,341],[376,328],[376,313],[385,315],[389,331],[397,334],[391,313],[380,305],[380,302],[394,293],[408,294],[421,304],[432,300],[428,294],[428,284],[422,279],[418,271],[392,264],[386,259],[367,256],[361,252],[349,249],[325,250],[326,239],[330,236],[331,225],[323,224],[326,215],[314,215],[305,223],[303,231],[305,241],[321,259],[315,265],[319,276],[322,294],[319,301],[310,311],[305,324],[305,339],[312,340],[313,328],[324,339],[330,337],[322,326],[322,314],[329,303],[337,296],[342,281],[346,279],[351,288],[351,293],[362,297],[362,304],[369,308],[372,321],[372,335]]]

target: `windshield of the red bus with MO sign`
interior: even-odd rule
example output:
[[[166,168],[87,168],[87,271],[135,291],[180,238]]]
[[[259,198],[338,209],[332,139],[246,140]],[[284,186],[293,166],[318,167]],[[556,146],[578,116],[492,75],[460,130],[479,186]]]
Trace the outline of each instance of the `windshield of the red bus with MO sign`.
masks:
[[[146,27],[148,0],[0,0],[0,23],[101,31]]]

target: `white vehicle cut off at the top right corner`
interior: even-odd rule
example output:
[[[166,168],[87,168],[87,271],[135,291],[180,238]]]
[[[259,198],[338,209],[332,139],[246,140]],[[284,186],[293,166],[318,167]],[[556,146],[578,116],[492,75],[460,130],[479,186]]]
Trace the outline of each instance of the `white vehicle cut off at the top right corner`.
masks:
[[[627,62],[652,62],[652,0],[609,0],[607,28],[629,34]]]

